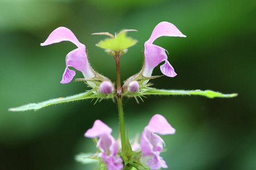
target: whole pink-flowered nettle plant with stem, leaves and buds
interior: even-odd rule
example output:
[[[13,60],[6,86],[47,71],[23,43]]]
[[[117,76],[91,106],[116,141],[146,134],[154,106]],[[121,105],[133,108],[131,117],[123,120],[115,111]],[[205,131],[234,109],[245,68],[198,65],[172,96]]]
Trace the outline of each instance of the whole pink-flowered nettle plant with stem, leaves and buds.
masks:
[[[98,74],[92,69],[88,62],[85,45],[77,40],[76,36],[65,27],[55,29],[41,45],[50,45],[61,41],[71,41],[77,46],[77,49],[72,50],[66,57],[66,68],[63,78],[60,83],[69,83],[75,76],[76,72],[70,70],[73,67],[79,70],[84,75],[84,78],[76,79],[87,84],[91,90],[82,92],[81,94],[60,97],[51,99],[42,103],[33,103],[23,105],[18,108],[11,108],[9,111],[28,111],[37,110],[47,107],[52,104],[66,103],[69,101],[84,100],[84,99],[113,99],[117,100],[119,113],[119,137],[115,140],[112,136],[112,129],[104,122],[96,120],[91,129],[87,130],[85,137],[93,138],[97,147],[97,152],[94,155],[85,157],[87,159],[98,160],[96,169],[160,169],[167,168],[166,162],[160,156],[163,151],[164,141],[157,135],[174,134],[175,129],[168,123],[166,118],[160,114],[155,114],[148,125],[144,128],[141,134],[141,142],[138,143],[138,138],[134,142],[129,141],[128,131],[125,130],[125,121],[123,117],[123,97],[134,97],[138,101],[138,97],[147,95],[200,95],[209,98],[213,97],[234,97],[237,94],[221,94],[214,91],[201,90],[159,90],[151,87],[149,83],[151,79],[159,78],[160,76],[152,76],[152,71],[159,63],[164,61],[160,66],[162,73],[169,77],[174,77],[177,74],[174,68],[167,61],[166,49],[154,45],[153,42],[161,36],[170,37],[186,37],[175,27],[174,24],[161,22],[154,28],[150,39],[144,44],[144,62],[141,71],[125,80],[123,86],[120,78],[119,61],[123,54],[127,53],[127,49],[137,43],[137,40],[127,37],[127,32],[137,31],[135,29],[124,29],[115,35],[109,32],[93,33],[93,35],[106,35],[108,39],[102,40],[96,44],[100,48],[105,49],[105,52],[110,54],[115,59],[117,68],[117,86],[115,87],[111,80],[105,76]],[[83,159],[85,159],[83,158]]]

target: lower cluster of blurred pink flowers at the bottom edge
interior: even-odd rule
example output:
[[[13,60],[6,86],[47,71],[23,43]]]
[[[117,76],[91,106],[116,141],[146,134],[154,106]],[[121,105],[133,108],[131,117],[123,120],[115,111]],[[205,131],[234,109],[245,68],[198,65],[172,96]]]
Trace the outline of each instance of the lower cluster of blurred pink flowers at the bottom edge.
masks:
[[[86,131],[85,137],[99,138],[97,147],[100,148],[100,152],[97,154],[97,156],[102,158],[102,161],[106,164],[107,169],[123,169],[124,164],[130,166],[129,163],[131,161],[129,159],[122,160],[118,156],[118,145],[111,133],[112,129],[110,129],[108,125],[104,124],[100,120],[96,120],[93,127]],[[132,165],[139,165],[137,166],[138,169],[145,168],[145,165],[141,163],[141,160],[145,159],[147,166],[151,169],[159,169],[160,167],[167,168],[166,162],[164,162],[163,158],[160,156],[160,152],[163,150],[164,141],[155,133],[160,135],[174,134],[175,129],[172,128],[166,118],[160,114],[155,114],[151,118],[150,122],[142,132],[141,147],[138,148],[138,143],[134,143],[134,146],[137,147],[131,147],[132,150],[139,150],[136,156],[130,156],[130,158],[137,157],[137,159],[132,160]],[[125,152],[127,152],[127,150]],[[125,163],[123,163],[123,161]]]

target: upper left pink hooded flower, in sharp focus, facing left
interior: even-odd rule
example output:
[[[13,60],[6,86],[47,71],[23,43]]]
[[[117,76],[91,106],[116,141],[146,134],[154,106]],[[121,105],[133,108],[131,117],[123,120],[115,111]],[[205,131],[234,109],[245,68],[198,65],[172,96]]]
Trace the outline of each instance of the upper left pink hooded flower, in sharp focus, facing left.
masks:
[[[88,62],[88,58],[85,52],[85,45],[81,44],[79,40],[77,40],[76,36],[73,32],[65,27],[56,28],[47,38],[46,41],[41,43],[42,46],[54,44],[61,41],[71,41],[73,44],[77,46],[77,49],[72,50],[67,54],[66,57],[66,69],[63,74],[63,78],[60,83],[69,83],[76,75],[74,70],[69,70],[70,67],[74,67],[76,70],[79,70],[84,75],[86,80],[92,79],[95,74],[91,69],[90,64]]]

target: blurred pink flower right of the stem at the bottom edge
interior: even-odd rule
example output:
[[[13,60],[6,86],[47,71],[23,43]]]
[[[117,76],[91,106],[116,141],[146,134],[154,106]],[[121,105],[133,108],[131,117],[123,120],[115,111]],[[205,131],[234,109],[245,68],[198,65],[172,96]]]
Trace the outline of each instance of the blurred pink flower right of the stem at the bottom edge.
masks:
[[[164,141],[159,135],[174,134],[175,129],[167,122],[160,114],[155,114],[144,128],[141,135],[141,151],[142,156],[149,156],[147,165],[151,169],[159,169],[160,167],[167,168],[166,162],[160,156],[163,149]]]

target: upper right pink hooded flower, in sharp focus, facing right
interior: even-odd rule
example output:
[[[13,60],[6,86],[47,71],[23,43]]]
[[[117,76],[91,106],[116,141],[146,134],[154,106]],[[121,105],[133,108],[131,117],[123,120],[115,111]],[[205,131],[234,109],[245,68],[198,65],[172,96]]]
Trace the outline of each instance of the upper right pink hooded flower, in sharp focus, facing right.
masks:
[[[148,39],[144,44],[145,61],[142,73],[143,76],[150,77],[153,69],[163,61],[165,61],[165,63],[160,66],[160,70],[162,71],[162,73],[170,77],[174,77],[177,75],[174,71],[174,68],[167,61],[166,49],[153,44],[153,42],[158,37],[162,36],[186,37],[185,35],[183,35],[183,33],[179,31],[179,29],[175,27],[174,24],[168,22],[161,22],[156,25],[150,39]]]

